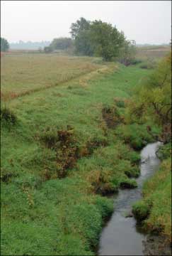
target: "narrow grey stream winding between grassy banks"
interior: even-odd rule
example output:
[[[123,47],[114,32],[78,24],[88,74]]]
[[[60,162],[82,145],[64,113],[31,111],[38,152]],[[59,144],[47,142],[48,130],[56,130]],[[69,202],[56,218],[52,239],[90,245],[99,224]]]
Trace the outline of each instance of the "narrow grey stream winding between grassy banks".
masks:
[[[144,255],[144,235],[137,228],[133,217],[126,218],[132,204],[142,198],[142,186],[154,171],[159,168],[160,160],[156,151],[161,142],[151,143],[141,151],[141,174],[137,178],[138,187],[122,189],[114,196],[115,210],[101,233],[98,255]]]

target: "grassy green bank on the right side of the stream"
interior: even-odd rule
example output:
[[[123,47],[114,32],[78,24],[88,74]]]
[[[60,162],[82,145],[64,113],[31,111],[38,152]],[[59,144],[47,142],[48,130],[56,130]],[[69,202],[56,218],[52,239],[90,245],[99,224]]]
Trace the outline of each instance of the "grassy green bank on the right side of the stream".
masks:
[[[170,146],[161,149],[164,159],[159,171],[144,183],[142,201],[133,206],[134,216],[151,233],[165,235],[171,241],[171,157]],[[164,151],[164,154],[162,152]]]

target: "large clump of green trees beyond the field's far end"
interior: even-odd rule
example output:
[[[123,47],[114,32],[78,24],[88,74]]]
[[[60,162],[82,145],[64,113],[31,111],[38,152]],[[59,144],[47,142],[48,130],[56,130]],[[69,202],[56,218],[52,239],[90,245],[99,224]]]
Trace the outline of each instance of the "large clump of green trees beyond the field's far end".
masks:
[[[123,60],[129,60],[131,55],[134,56],[134,44],[127,41],[124,33],[110,23],[80,18],[71,24],[70,33],[77,54],[96,55],[103,57],[104,60],[113,60],[120,55],[120,49],[125,48]]]

